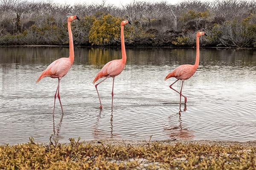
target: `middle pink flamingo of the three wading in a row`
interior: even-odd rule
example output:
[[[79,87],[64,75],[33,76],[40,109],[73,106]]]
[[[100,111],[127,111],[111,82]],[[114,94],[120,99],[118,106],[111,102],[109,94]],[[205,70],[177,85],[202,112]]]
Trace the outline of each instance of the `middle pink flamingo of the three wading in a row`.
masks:
[[[101,71],[99,71],[99,73],[96,75],[95,79],[93,80],[93,84],[95,82],[97,82],[98,79],[102,78],[102,77],[105,77],[105,79],[109,78],[109,77],[112,77],[113,78],[113,86],[112,86],[112,104],[111,104],[111,108],[113,108],[113,97],[114,97],[114,80],[115,80],[115,77],[118,76],[122,71],[123,69],[125,68],[125,63],[126,63],[126,53],[125,53],[125,37],[124,37],[124,26],[126,24],[131,24],[131,22],[129,20],[126,20],[126,21],[122,21],[121,22],[121,49],[122,49],[122,59],[115,59],[115,60],[112,60],[110,62],[108,62],[107,64],[105,64]],[[95,88],[96,88],[96,91],[97,91],[97,94],[99,96],[99,91],[98,91],[98,88],[97,86],[102,83],[105,79],[103,79],[102,81],[100,81],[99,83],[97,83],[95,85]],[[99,108],[102,109],[102,103],[101,103],[101,100],[100,100],[100,96],[99,96],[99,103],[100,103],[100,106]]]

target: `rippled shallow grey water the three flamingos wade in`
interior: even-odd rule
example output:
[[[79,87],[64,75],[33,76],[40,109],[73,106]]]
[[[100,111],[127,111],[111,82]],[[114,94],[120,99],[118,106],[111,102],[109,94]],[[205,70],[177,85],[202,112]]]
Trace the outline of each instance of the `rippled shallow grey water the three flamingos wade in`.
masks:
[[[47,65],[67,57],[68,48],[0,48],[0,144],[92,139],[256,140],[256,51],[201,49],[195,75],[185,81],[186,111],[163,79],[181,64],[195,62],[195,49],[127,48],[127,65],[99,85],[102,111],[92,81],[102,66],[119,59],[120,48],[75,48],[75,62],[61,79],[64,114],[53,101],[57,79],[35,81]],[[174,85],[180,89],[180,82]]]

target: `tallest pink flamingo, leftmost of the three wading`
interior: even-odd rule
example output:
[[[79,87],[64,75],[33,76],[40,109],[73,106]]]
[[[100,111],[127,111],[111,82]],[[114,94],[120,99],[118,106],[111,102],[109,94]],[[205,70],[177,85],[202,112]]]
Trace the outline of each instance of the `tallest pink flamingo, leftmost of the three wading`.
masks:
[[[58,86],[54,96],[54,106],[53,106],[53,113],[55,109],[55,101],[56,101],[56,94],[58,91],[58,99],[61,105],[61,97],[60,97],[60,81],[61,78],[64,77],[74,62],[74,45],[73,45],[73,36],[71,31],[71,23],[73,20],[80,20],[77,15],[70,16],[67,18],[67,28],[68,28],[68,36],[69,36],[69,43],[70,43],[70,55],[68,58],[63,57],[60,59],[56,59],[52,62],[41,74],[41,76],[37,79],[37,83],[43,79],[44,77],[51,77],[51,78],[58,78]],[[63,113],[63,108],[61,105],[61,111]]]

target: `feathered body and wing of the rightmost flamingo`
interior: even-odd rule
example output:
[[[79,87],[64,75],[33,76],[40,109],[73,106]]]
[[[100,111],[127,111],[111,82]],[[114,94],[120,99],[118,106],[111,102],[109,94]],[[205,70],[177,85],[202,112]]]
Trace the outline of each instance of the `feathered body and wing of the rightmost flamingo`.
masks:
[[[193,69],[193,65],[180,65],[175,68],[171,73],[169,73],[164,80],[169,79],[170,77],[185,80],[189,79],[194,73],[195,71]]]

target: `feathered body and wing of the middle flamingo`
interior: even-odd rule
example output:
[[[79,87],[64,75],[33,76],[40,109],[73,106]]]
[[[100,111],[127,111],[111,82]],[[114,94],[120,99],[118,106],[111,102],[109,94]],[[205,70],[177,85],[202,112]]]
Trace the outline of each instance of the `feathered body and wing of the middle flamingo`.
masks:
[[[99,73],[96,75],[95,79],[93,80],[93,84],[102,77],[114,77],[119,75],[123,71],[124,67],[125,65],[121,62],[120,59],[115,59],[108,62],[102,67],[101,71],[99,71]]]

